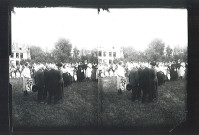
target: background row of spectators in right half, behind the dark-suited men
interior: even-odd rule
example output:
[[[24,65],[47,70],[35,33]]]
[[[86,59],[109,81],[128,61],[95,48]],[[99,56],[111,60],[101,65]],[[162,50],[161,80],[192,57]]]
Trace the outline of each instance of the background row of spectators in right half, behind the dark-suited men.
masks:
[[[119,66],[121,65],[123,69]],[[119,68],[118,68],[119,67]],[[99,64],[98,71],[99,77],[108,77],[108,76],[117,76],[121,72],[124,72],[124,75],[127,77],[129,75],[129,71],[134,68],[151,68],[150,63],[146,62],[118,62],[113,64]],[[174,63],[156,63],[154,66],[157,72],[163,72],[167,78],[167,80],[171,80],[172,70],[177,73],[177,78],[185,78],[186,77],[186,64],[174,64]]]

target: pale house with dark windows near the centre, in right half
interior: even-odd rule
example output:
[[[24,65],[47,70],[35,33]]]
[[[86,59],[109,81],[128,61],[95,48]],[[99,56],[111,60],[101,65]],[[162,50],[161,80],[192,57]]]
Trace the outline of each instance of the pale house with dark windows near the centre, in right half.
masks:
[[[98,47],[98,63],[112,64],[114,59],[124,58],[122,47]]]

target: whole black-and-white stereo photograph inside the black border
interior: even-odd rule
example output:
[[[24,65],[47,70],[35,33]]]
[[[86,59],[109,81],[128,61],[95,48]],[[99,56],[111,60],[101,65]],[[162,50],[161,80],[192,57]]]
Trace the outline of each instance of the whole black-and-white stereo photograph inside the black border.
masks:
[[[12,126],[186,121],[186,9],[14,8]]]

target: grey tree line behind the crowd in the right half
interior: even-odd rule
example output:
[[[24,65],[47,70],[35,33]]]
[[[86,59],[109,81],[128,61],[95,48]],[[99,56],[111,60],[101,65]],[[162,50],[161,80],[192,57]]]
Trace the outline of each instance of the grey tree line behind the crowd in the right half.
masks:
[[[161,39],[154,39],[144,51],[137,51],[132,46],[124,47],[124,60],[130,62],[173,62],[187,63],[187,48],[175,46],[173,49]]]

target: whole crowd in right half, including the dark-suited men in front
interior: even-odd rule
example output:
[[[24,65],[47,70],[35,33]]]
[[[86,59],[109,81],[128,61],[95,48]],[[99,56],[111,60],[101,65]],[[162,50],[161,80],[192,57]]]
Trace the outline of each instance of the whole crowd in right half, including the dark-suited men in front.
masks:
[[[133,101],[142,99],[154,101],[158,98],[157,88],[169,80],[185,79],[187,65],[185,63],[124,63],[99,64],[98,75],[116,77],[118,94],[132,90]]]

